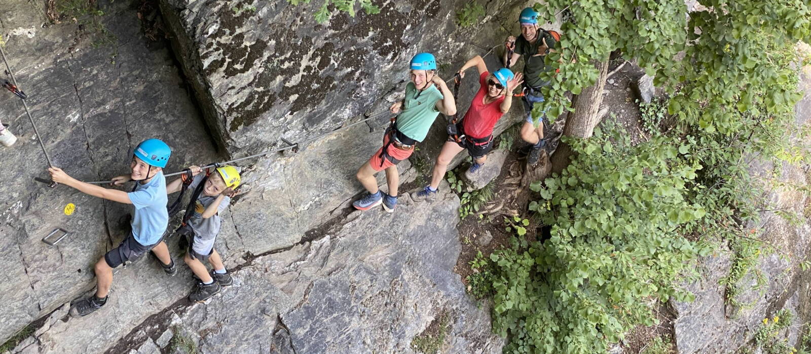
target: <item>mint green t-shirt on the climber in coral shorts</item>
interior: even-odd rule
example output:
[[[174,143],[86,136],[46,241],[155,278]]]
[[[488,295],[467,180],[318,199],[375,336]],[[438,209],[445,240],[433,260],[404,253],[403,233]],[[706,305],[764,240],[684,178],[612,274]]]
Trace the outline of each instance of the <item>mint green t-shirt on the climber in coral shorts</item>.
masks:
[[[428,135],[428,129],[434,124],[436,116],[440,114],[436,110],[436,101],[442,99],[442,91],[436,85],[431,85],[419,93],[419,97],[418,93],[414,82],[405,86],[405,103],[397,116],[397,130],[406,137],[421,142]]]

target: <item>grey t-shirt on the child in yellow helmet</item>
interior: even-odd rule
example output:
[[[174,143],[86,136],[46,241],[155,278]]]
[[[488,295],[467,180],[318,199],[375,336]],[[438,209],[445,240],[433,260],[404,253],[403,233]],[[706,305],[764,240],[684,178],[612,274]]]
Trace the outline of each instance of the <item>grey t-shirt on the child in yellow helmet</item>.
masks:
[[[203,174],[196,175],[195,178],[191,180],[189,190],[194,191],[194,189],[200,185],[200,181],[202,181],[204,177],[205,175]],[[200,196],[197,197],[197,202],[195,203],[195,213],[191,215],[191,219],[189,220],[191,230],[195,231],[195,242],[191,247],[200,255],[208,255],[214,247],[214,238],[217,238],[217,234],[220,233],[220,224],[222,221],[220,213],[222,213],[225,208],[228,208],[231,198],[228,196],[223,198],[220,205],[217,207],[217,213],[208,219],[204,219],[203,212],[214,200],[217,200],[217,196],[206,196],[204,192],[200,192]]]

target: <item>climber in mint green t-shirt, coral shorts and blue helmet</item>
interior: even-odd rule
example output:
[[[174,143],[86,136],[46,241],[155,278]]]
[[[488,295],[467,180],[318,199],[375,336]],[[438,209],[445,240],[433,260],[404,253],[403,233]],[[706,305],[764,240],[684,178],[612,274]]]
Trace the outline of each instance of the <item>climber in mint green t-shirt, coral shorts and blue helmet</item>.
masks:
[[[352,204],[355,209],[368,210],[383,204],[383,208],[392,213],[400,186],[397,163],[411,156],[414,145],[425,139],[436,116],[440,113],[446,116],[456,114],[453,93],[436,75],[436,58],[431,53],[415,55],[410,69],[411,82],[405,86],[405,98],[389,107],[392,113],[399,114],[384,133],[383,147],[371,155],[356,175],[368,193]],[[375,174],[383,170],[386,171],[388,194],[380,192],[375,179]]]

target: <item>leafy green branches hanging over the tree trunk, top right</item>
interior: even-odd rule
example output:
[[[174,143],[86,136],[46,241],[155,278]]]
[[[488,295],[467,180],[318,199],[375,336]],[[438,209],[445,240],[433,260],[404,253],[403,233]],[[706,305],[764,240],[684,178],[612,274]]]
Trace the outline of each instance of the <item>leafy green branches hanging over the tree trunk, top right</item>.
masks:
[[[563,69],[558,74],[555,70],[541,74],[551,84],[542,88],[546,101],[534,109],[546,111],[551,120],[571,110],[565,93],[577,95],[593,85],[599,77],[593,61],[605,61],[617,49],[624,59],[636,58],[647,74],[654,75],[657,86],[676,93],[672,114],[678,113],[690,124],[700,123],[710,133],[733,133],[743,124],[741,114],[757,103],[777,113],[796,102],[796,91],[781,87],[791,77],[783,75],[779,57],[769,47],[791,50],[799,40],[809,42],[809,4],[802,0],[768,5],[757,0],[700,3],[706,9],[690,12],[689,20],[684,16],[686,5],[679,0],[536,4],[535,10],[547,20],[566,6],[572,16],[561,24],[563,37],[556,48],[560,53],[546,58],[547,65],[559,68],[562,56]],[[683,57],[676,56],[682,51]],[[575,53],[577,62],[569,63]]]

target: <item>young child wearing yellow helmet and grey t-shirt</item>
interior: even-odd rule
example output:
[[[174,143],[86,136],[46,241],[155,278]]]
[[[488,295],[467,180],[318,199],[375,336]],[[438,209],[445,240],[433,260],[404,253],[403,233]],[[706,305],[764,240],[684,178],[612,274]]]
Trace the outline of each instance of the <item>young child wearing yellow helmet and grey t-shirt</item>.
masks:
[[[189,294],[189,301],[200,302],[219,293],[222,286],[234,284],[220,255],[214,250],[214,241],[220,233],[222,222],[219,213],[228,207],[231,196],[236,195],[235,191],[242,179],[234,166],[217,167],[211,174],[201,174],[203,170],[198,166],[190,166],[189,170],[193,177],[188,188],[195,190],[197,198],[194,201],[194,211],[187,212],[188,220],[184,220],[191,229],[188,233],[191,240],[183,261],[200,279]],[[178,192],[181,187],[182,179],[175,179],[166,185],[166,192]],[[211,272],[208,272],[202,261],[208,261],[212,265]]]

